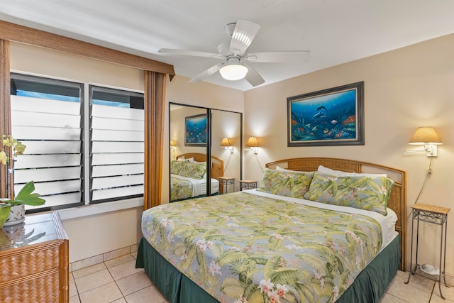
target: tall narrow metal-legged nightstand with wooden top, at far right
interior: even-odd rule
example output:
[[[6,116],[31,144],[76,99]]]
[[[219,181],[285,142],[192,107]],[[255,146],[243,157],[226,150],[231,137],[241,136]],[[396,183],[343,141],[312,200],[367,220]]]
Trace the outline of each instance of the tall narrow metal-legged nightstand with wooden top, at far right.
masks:
[[[411,250],[410,250],[410,273],[409,279],[405,282],[407,284],[410,282],[411,275],[421,275],[421,272],[425,272],[428,275],[437,276],[437,278],[432,279],[438,282],[438,287],[440,290],[440,296],[443,297],[441,292],[441,277],[443,276],[443,281],[446,284],[445,277],[445,265],[446,265],[446,233],[448,225],[448,212],[450,209],[441,206],[428,205],[417,203],[411,206],[412,211],[412,220],[411,220]],[[416,258],[415,264],[413,267],[413,235],[414,235],[414,221],[416,221]],[[429,264],[418,264],[418,242],[419,242],[419,221],[424,221],[430,224],[437,224],[441,226],[441,236],[440,236],[440,262],[439,268],[434,267]],[[419,270],[421,270],[421,272]],[[426,277],[426,276],[424,276]]]

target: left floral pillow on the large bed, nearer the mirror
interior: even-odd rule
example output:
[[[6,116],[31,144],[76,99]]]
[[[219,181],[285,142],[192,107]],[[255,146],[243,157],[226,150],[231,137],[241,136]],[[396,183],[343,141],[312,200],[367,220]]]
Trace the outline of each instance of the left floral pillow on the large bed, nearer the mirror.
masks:
[[[263,173],[259,190],[270,194],[302,198],[309,189],[314,172],[293,172],[291,170],[270,170]]]

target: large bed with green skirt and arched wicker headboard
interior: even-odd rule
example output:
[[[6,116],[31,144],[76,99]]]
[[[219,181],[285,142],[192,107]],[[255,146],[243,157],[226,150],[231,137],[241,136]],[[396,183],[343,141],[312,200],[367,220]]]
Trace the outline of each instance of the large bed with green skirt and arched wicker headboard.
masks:
[[[386,173],[387,177],[328,177],[331,183],[391,182],[384,190],[387,215],[380,214],[381,204],[371,211],[364,205],[357,209],[307,202],[297,197],[301,190],[292,191],[296,187],[266,190],[267,182],[278,180],[276,174],[307,178],[310,173],[302,172],[314,172],[305,192],[314,199],[317,191],[312,188],[323,187],[320,180],[326,177],[318,172],[319,165],[374,176]],[[144,211],[136,267],[145,268],[169,302],[378,302],[405,264],[405,243],[400,239],[405,238],[406,172],[334,158],[287,159],[266,167],[260,190]],[[358,195],[365,193],[361,187]],[[197,216],[203,219],[196,221]]]

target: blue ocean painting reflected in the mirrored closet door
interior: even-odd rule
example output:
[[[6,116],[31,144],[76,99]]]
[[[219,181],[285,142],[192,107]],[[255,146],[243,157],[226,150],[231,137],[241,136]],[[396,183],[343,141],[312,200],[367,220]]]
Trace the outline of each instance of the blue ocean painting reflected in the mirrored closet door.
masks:
[[[206,114],[187,116],[184,119],[184,146],[206,146]]]

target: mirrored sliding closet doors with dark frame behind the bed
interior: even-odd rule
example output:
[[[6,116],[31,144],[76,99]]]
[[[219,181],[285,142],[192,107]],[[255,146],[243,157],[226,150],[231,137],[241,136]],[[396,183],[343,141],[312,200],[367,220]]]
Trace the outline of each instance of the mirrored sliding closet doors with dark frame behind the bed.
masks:
[[[169,105],[170,202],[239,190],[242,114]]]

